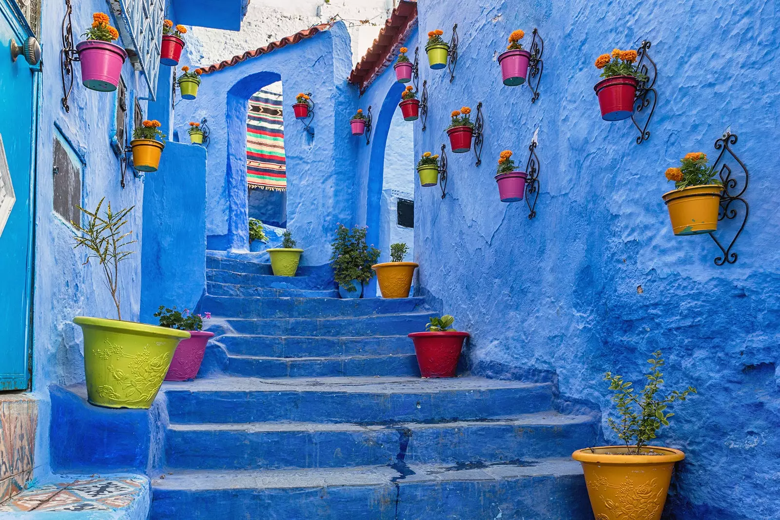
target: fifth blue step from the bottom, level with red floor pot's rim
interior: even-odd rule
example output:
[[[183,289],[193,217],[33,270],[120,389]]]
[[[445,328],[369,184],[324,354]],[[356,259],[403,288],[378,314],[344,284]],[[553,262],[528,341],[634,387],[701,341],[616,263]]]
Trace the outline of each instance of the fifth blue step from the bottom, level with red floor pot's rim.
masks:
[[[413,354],[406,335],[329,338],[316,336],[253,336],[225,334],[218,341],[228,352],[240,356],[305,358],[324,356],[377,356]]]

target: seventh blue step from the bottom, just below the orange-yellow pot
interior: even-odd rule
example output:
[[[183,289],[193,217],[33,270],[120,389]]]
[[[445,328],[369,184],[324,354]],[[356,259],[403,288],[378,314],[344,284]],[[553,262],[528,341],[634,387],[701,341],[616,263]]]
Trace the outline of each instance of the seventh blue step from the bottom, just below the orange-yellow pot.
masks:
[[[214,317],[330,318],[410,313],[423,310],[424,298],[253,298],[206,296],[200,308]]]

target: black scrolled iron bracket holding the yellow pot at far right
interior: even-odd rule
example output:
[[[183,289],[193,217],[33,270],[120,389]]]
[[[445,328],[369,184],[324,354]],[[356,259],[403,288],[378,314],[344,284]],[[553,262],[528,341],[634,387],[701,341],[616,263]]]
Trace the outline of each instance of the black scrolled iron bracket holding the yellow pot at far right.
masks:
[[[717,237],[715,237],[714,233],[710,233],[710,236],[714,240],[715,244],[718,246],[719,249],[721,249],[722,256],[716,256],[714,259],[715,265],[725,265],[725,264],[735,264],[737,259],[737,254],[732,253],[732,247],[734,246],[734,243],[736,242],[736,239],[739,238],[739,235],[742,234],[742,230],[745,228],[745,224],[747,222],[747,216],[750,213],[750,207],[747,204],[747,201],[744,199],[743,195],[745,194],[745,191],[747,189],[747,183],[749,180],[749,174],[747,172],[747,168],[745,167],[745,164],[743,161],[739,159],[739,157],[736,156],[734,151],[731,149],[732,144],[736,144],[737,136],[736,134],[733,134],[729,132],[728,130],[723,134],[723,136],[715,140],[715,150],[721,150],[721,153],[718,154],[718,159],[713,163],[712,168],[720,168],[720,172],[718,172],[718,175],[721,178],[721,182],[723,182],[723,193],[721,194],[721,207],[718,210],[718,222],[729,219],[734,220],[738,217],[739,212],[737,211],[737,208],[732,207],[733,203],[739,202],[743,204],[745,215],[742,218],[742,224],[739,225],[739,229],[736,232],[736,235],[734,235],[734,238],[731,242],[729,242],[728,247],[723,247],[722,243],[718,240]],[[726,152],[729,152],[728,155],[726,155]],[[745,174],[745,180],[742,183],[742,187],[739,187],[739,182],[737,182],[737,179],[735,179],[732,174],[734,174],[735,170],[732,170],[732,167],[729,166],[727,161],[736,161],[736,164],[739,165],[739,168],[742,168],[742,171]]]

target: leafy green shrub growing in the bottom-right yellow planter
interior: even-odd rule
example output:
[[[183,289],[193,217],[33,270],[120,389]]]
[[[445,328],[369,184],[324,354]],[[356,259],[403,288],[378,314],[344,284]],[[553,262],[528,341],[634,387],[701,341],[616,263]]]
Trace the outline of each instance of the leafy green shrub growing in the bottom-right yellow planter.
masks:
[[[696,394],[696,388],[688,387],[686,391],[675,390],[666,396],[657,396],[664,384],[664,374],[660,370],[664,366],[664,359],[661,356],[659,350],[653,352],[651,359],[647,359],[651,368],[645,375],[647,384],[640,394],[634,393],[633,383],[626,383],[622,376],[613,375],[612,372],[604,374],[604,380],[609,381],[609,389],[614,392],[612,402],[620,416],[618,421],[608,418],[607,423],[626,443],[626,455],[639,455],[642,447],[655,438],[661,426],[669,426],[669,417],[675,414],[666,412],[668,405],[675,401],[685,401],[689,394]]]

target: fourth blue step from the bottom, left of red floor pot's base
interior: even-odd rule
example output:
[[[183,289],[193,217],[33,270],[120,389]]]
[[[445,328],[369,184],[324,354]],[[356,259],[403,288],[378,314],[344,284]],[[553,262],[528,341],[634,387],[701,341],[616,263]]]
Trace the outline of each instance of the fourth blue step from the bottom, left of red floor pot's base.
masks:
[[[245,377],[420,377],[414,354],[307,358],[228,356],[227,372]]]

